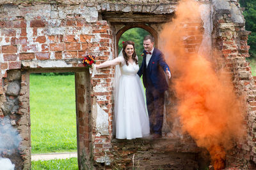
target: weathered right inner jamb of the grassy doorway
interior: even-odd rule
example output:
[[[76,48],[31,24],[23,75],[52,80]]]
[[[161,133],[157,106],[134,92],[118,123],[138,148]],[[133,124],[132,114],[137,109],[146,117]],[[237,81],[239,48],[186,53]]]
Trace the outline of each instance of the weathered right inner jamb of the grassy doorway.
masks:
[[[76,73],[77,156],[80,169],[90,169],[92,155],[92,105],[90,74]]]

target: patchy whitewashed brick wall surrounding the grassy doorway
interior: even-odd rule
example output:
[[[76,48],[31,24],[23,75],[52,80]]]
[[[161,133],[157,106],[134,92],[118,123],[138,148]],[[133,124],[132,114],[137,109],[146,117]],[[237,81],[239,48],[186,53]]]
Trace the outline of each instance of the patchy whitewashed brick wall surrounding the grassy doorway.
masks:
[[[5,92],[8,81],[12,82],[7,78],[11,74],[8,70],[22,69],[20,107],[15,113],[17,116],[7,113],[12,115],[17,123],[16,127],[22,138],[20,143],[22,164],[16,166],[29,169],[31,165],[28,85],[29,73],[33,72],[32,69],[37,72],[52,69],[68,69],[77,72],[79,69],[76,74],[77,140],[79,141],[77,146],[81,167],[90,166],[88,161],[92,158],[88,156],[88,153],[94,152],[95,149],[93,153],[95,160],[97,157],[100,158],[100,142],[109,138],[111,134],[111,74],[113,74],[113,69],[106,69],[90,78],[90,74],[87,73],[88,69],[84,69],[81,64],[81,59],[87,54],[97,56],[97,63],[113,58],[112,32],[108,22],[98,20],[97,9],[88,6],[6,5],[1,7],[1,11],[1,106],[7,103]],[[105,91],[103,92],[102,89]],[[96,106],[99,105],[109,117],[106,119],[106,124],[109,125],[107,137],[99,135],[96,122],[97,110],[95,111],[96,120],[92,119],[93,106],[89,104],[91,100]],[[0,113],[3,115],[3,110],[0,110]],[[95,123],[95,128],[92,127],[92,121]],[[109,140],[108,142],[110,143]],[[105,146],[106,142],[104,143]]]

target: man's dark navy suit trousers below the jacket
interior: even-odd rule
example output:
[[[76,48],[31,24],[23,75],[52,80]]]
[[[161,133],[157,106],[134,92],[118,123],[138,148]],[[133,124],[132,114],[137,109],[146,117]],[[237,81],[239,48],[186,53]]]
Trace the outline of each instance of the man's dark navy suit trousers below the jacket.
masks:
[[[150,122],[150,134],[162,134],[164,115],[164,92],[153,86],[146,89],[147,110]]]

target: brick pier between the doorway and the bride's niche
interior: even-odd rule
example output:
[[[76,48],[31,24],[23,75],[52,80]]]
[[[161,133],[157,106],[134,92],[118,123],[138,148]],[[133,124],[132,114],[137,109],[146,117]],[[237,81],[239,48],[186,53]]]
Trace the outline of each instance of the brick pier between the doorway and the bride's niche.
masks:
[[[112,31],[109,27],[108,22],[102,20],[98,21],[95,25],[93,32],[95,36],[100,37],[98,39],[99,46],[95,47],[99,49],[99,55],[97,55],[97,64],[102,63],[106,60],[113,59],[113,36]],[[108,124],[108,133],[102,135],[97,125],[93,126],[92,139],[93,139],[93,159],[96,162],[104,162],[109,165],[109,148],[111,148],[112,138],[112,118],[113,118],[113,97],[112,97],[112,78],[114,73],[113,67],[106,67],[100,69],[100,71],[92,78],[93,83],[93,107],[100,107],[103,114],[108,115],[108,119],[105,122]],[[93,114],[97,109],[93,110]],[[98,113],[99,114],[99,113]],[[99,115],[97,115],[99,116]],[[96,118],[96,117],[95,117]],[[97,124],[97,122],[96,122]]]

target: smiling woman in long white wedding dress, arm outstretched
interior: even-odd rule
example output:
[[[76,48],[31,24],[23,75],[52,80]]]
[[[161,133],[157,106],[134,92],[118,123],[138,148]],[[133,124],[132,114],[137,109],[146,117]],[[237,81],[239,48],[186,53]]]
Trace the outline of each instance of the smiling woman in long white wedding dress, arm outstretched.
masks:
[[[122,54],[120,53],[116,59],[95,64],[95,68],[116,65],[120,66],[121,71],[114,94],[116,138],[134,139],[149,136],[149,120],[143,86],[137,74],[139,65],[134,42],[125,41]]]

